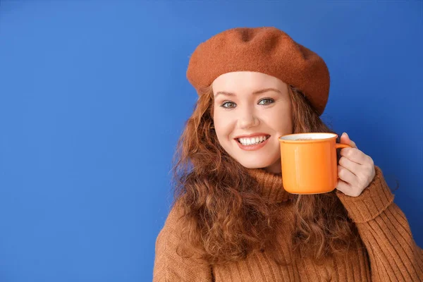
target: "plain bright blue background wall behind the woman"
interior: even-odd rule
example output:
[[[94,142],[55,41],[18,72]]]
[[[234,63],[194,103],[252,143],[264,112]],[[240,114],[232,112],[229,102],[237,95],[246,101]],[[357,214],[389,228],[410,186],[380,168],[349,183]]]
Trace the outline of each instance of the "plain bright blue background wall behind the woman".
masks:
[[[423,247],[422,1],[1,1],[0,281],[151,281],[197,44],[276,26]]]

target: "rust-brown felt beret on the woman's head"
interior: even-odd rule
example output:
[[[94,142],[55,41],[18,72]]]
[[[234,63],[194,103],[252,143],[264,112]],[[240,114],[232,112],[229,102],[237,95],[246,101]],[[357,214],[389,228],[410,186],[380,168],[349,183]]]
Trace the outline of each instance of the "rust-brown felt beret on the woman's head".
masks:
[[[223,73],[257,71],[299,88],[321,115],[329,97],[323,59],[276,27],[236,27],[197,46],[187,78],[197,93]]]

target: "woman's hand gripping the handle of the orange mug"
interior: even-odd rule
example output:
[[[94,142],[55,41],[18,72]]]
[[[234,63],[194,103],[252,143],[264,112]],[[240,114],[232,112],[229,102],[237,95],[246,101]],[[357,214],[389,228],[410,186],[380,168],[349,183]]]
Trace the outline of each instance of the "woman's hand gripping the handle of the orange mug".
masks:
[[[341,135],[341,144],[351,148],[341,149],[338,164],[338,185],[336,189],[351,197],[358,197],[372,182],[376,172],[373,159],[357,149],[355,142],[346,133]]]

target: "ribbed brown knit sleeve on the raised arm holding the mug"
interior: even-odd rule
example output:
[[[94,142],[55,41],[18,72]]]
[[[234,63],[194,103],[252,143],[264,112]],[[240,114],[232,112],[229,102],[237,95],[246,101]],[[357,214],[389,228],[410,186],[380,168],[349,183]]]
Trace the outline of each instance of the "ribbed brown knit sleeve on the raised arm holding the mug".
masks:
[[[369,254],[372,281],[423,281],[423,250],[412,238],[405,214],[375,166],[376,176],[358,197],[336,195],[348,211]]]

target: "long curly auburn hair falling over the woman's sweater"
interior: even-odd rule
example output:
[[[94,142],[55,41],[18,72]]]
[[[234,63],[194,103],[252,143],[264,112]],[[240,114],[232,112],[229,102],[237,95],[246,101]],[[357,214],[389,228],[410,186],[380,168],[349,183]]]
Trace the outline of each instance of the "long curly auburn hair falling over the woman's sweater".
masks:
[[[300,90],[288,85],[288,92],[293,133],[334,133]],[[225,264],[266,250],[278,264],[287,265],[278,248],[272,247],[278,228],[283,228],[278,224],[281,203],[261,197],[246,168],[219,145],[213,106],[209,86],[200,91],[173,157],[173,204],[183,211],[178,228],[184,240],[177,252],[184,257],[197,255],[209,264]],[[360,240],[335,192],[293,197],[293,255],[312,257],[319,264]]]

